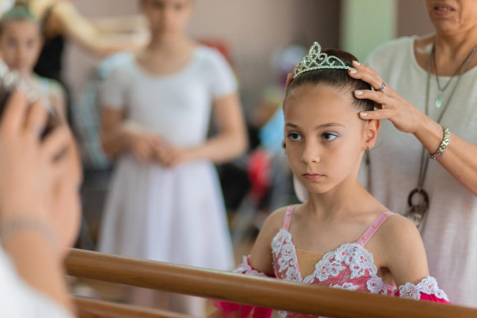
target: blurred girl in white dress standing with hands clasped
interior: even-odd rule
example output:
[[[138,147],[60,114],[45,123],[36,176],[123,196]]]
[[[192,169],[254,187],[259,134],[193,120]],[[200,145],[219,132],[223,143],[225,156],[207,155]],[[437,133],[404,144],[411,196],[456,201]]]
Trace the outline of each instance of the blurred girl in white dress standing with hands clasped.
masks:
[[[186,36],[193,0],[141,0],[141,6],[151,43],[104,83],[103,147],[118,160],[99,249],[230,270],[213,162],[246,148],[235,76],[220,53]],[[219,132],[207,139],[211,110]],[[136,293],[131,300],[147,305],[146,298]],[[204,302],[190,299],[171,295],[168,307],[203,315]]]

